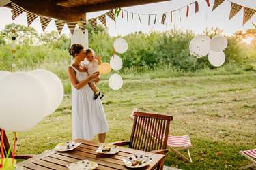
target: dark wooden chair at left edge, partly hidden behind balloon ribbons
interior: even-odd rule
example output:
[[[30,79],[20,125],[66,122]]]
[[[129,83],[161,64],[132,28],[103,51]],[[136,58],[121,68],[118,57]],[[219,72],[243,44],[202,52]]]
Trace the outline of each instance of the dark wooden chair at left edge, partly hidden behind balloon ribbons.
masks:
[[[1,135],[3,135],[3,154],[6,157],[8,150],[10,149],[10,144],[8,141],[8,138],[6,136],[5,131],[3,131],[3,134],[1,133],[2,129],[0,129],[0,139],[1,139]],[[0,141],[1,143],[1,141]],[[21,154],[21,155],[14,155],[15,159],[28,159],[28,158],[32,158],[34,155],[33,154]],[[10,158],[12,158],[12,152],[10,152]]]

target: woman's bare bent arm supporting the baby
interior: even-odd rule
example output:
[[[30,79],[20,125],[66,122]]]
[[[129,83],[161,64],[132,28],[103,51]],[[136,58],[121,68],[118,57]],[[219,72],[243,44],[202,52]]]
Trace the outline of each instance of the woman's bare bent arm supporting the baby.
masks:
[[[74,69],[72,67],[68,67],[68,77],[70,78],[71,84],[76,89],[83,88],[86,84],[88,84],[89,81],[91,81],[94,78],[97,78],[99,76],[99,73],[94,73],[93,75],[89,76],[89,78],[83,80],[82,82],[77,81],[76,74],[74,73]]]

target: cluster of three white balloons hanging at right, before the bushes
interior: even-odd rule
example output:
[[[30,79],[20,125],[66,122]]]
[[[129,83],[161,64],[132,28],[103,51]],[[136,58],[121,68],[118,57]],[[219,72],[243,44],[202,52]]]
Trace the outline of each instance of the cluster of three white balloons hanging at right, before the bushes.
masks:
[[[212,39],[206,35],[199,35],[194,37],[189,44],[190,54],[197,56],[197,58],[208,55],[209,63],[215,67],[225,63],[223,50],[226,48],[227,39],[221,35],[216,35]]]

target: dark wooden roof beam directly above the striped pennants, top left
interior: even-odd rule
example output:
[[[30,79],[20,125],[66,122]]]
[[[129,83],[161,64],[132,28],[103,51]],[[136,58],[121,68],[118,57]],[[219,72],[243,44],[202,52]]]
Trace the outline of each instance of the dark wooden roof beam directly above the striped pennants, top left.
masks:
[[[75,8],[72,9],[56,5],[52,0],[12,0],[12,2],[16,3],[20,7],[23,7],[29,12],[33,12],[42,16],[48,16],[50,18],[56,18],[70,22],[85,20],[85,12],[76,10]]]

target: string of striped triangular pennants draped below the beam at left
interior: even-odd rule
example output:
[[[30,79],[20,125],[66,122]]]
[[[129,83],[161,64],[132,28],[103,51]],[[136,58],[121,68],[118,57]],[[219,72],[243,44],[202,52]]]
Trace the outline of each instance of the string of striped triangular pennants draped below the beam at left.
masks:
[[[82,21],[76,21],[76,22],[66,22],[63,20],[48,18],[46,16],[39,16],[37,14],[33,14],[32,12],[25,10],[23,7],[20,7],[20,6],[16,5],[15,3],[12,3],[12,11],[11,12],[12,12],[12,20],[15,20],[15,18],[20,16],[20,14],[23,14],[23,12],[26,12],[27,26],[30,26],[33,23],[33,21],[36,20],[37,18],[40,18],[40,23],[41,23],[43,31],[46,29],[46,27],[51,22],[51,20],[54,20],[59,34],[61,33],[65,24],[68,26],[70,33],[73,35],[76,25],[78,25],[79,29],[81,29],[83,31],[83,33],[85,33],[85,27],[86,27],[87,23],[89,23],[91,25],[91,27],[94,30],[96,30],[97,29],[97,19],[100,20],[100,22],[102,24],[104,24],[105,27],[106,27],[106,16],[109,16],[109,18],[111,18],[113,21],[115,21],[115,14],[114,14],[113,10],[109,10],[105,14],[102,14],[96,18],[91,18],[87,21],[82,20]]]

